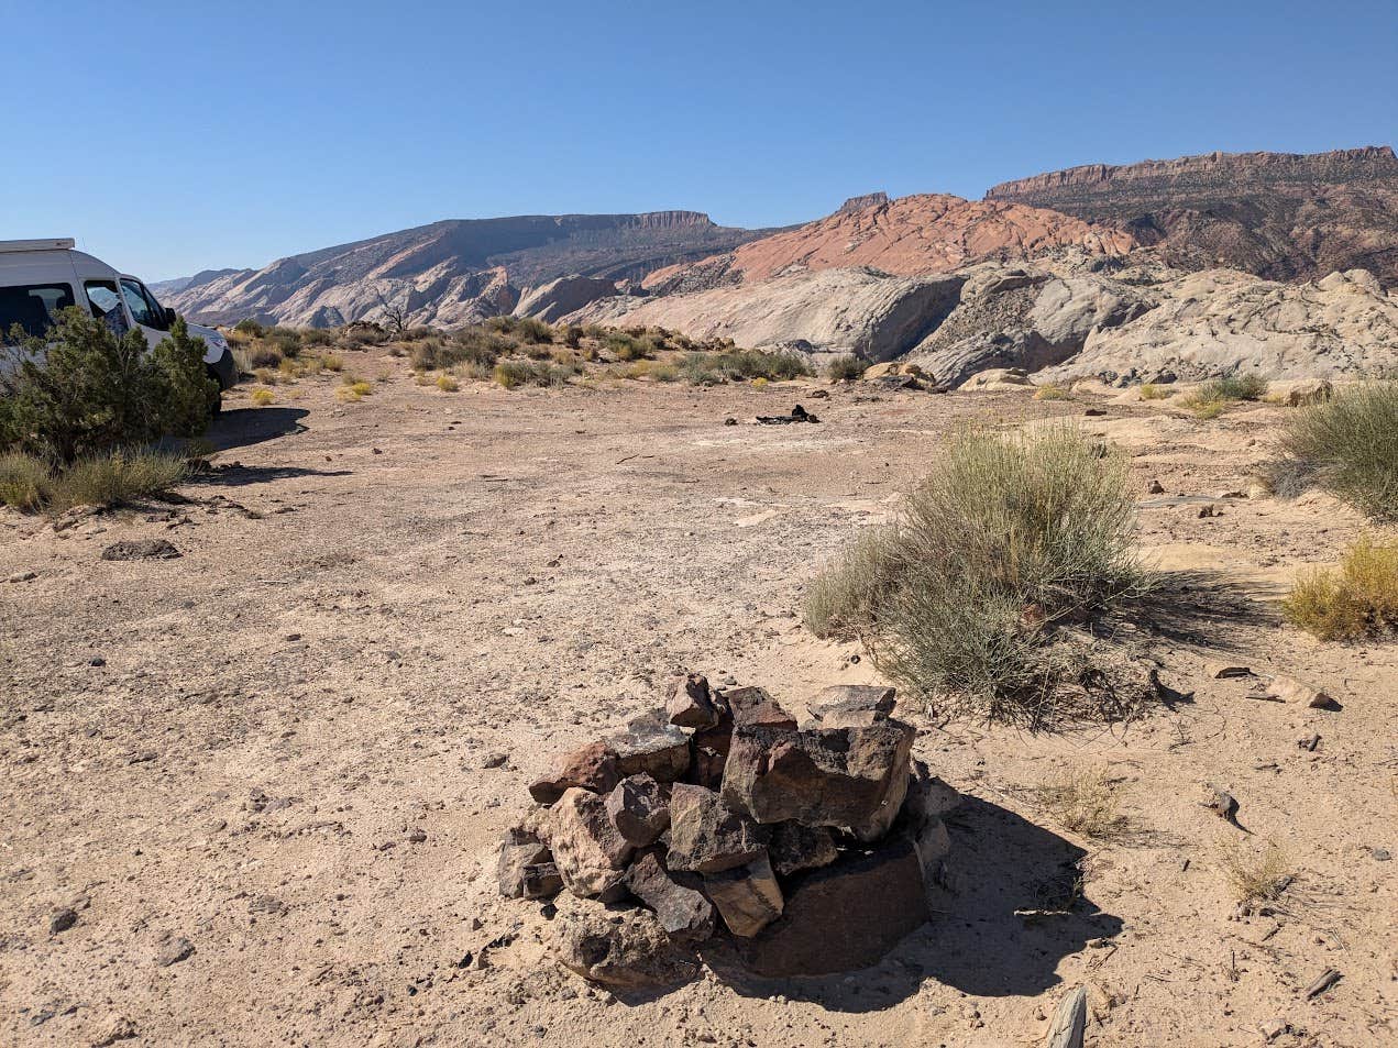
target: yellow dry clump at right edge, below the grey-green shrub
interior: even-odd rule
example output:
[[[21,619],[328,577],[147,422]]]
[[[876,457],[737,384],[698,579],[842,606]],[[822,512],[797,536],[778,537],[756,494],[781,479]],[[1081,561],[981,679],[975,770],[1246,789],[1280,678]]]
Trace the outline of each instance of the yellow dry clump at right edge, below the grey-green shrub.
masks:
[[[1398,629],[1398,541],[1366,535],[1345,551],[1338,570],[1302,574],[1282,613],[1320,640],[1359,640]]]

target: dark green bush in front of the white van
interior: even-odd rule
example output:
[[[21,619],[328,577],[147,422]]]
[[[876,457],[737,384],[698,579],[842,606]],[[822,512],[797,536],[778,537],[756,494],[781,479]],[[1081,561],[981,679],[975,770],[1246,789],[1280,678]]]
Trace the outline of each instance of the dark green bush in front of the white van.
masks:
[[[14,333],[0,352],[0,450],[57,463],[199,436],[208,426],[218,383],[204,367],[204,342],[183,320],[147,349],[140,331],[116,335],[102,320],[67,309],[42,338]]]

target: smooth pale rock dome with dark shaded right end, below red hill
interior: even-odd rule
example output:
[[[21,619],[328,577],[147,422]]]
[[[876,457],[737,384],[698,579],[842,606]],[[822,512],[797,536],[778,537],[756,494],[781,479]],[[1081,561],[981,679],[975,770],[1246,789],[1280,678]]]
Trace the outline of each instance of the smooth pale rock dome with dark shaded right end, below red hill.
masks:
[[[759,284],[664,298],[607,299],[572,321],[657,324],[692,338],[751,348],[802,347],[886,361],[952,310],[958,277],[888,277],[872,270],[793,272]]]

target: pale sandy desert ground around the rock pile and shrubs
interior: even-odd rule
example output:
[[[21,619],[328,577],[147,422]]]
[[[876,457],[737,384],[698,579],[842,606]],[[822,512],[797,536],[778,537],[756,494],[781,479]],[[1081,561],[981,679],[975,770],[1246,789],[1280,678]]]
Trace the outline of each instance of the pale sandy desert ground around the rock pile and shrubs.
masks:
[[[0,517],[0,1042],[1037,1045],[1082,982],[1089,1045],[1257,1045],[1272,1020],[1279,1045],[1398,1042],[1395,648],[1321,646],[1272,604],[1360,523],[1324,497],[1218,499],[1201,518],[1145,493],[1246,489],[1283,408],[1198,422],[1102,401],[1082,419],[1131,453],[1162,567],[1209,573],[1205,613],[1153,639],[1186,694],[1039,736],[905,710],[967,796],[948,912],[867,971],[706,970],[618,1000],[548,959],[537,904],[495,894],[526,783],[679,668],[793,706],[875,679],[801,630],[805,580],[949,426],[1085,405],[787,384],[446,394],[393,374],[359,404],[331,379],[235,401],[219,470],[185,504],[62,531]],[[723,425],[797,401],[823,423]],[[182,556],[99,559],[120,538]],[[1313,679],[1342,708],[1251,700],[1247,681],[1205,679],[1211,657]],[[1117,781],[1121,837],[1053,823],[1035,788],[1071,769]],[[1209,783],[1244,830],[1201,806]],[[1296,880],[1274,914],[1236,917],[1230,841],[1285,852]],[[1015,917],[1075,862],[1071,915]],[[75,924],[50,931],[63,908]],[[488,967],[461,967],[491,940]],[[1327,968],[1343,978],[1307,1000]]]

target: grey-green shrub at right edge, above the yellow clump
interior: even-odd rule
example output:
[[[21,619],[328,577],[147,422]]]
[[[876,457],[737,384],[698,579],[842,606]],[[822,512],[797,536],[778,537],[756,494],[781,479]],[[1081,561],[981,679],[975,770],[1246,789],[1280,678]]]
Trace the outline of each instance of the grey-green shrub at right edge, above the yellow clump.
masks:
[[[1279,495],[1318,486],[1373,520],[1398,520],[1398,380],[1338,390],[1299,408],[1267,479]]]

